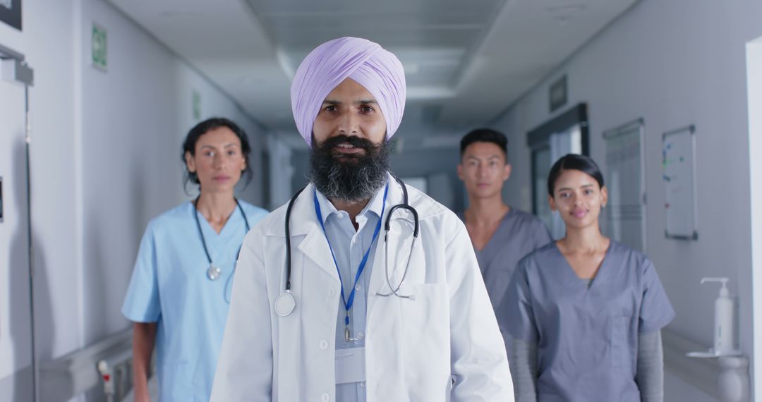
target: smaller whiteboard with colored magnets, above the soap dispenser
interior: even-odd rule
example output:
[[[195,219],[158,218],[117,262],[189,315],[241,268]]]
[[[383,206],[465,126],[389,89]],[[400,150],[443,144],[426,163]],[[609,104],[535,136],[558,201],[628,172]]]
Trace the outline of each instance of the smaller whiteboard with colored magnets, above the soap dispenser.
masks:
[[[688,126],[662,136],[662,166],[666,199],[665,235],[668,238],[699,238],[696,212],[696,129]]]

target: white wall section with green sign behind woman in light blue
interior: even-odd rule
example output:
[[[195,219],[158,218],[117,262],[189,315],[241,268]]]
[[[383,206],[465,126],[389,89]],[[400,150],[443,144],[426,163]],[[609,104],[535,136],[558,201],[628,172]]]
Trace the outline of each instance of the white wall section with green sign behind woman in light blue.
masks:
[[[181,142],[202,118],[229,116],[255,140],[255,172],[261,173],[260,129],[224,94],[197,75],[107,2],[89,0],[83,10],[83,49],[91,22],[108,32],[107,72],[82,57],[82,172],[85,248],[85,343],[126,326],[120,314],[139,238],[150,218],[188,196],[181,186]],[[261,182],[256,177],[250,190]],[[190,187],[189,187],[190,190]],[[252,197],[252,195],[254,197]],[[260,203],[261,194],[243,199]]]

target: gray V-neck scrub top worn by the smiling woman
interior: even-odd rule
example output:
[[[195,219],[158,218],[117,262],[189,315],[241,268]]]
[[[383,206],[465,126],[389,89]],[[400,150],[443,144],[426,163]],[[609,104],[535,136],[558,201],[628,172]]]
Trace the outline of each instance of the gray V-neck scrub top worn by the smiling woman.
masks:
[[[640,402],[638,333],[674,318],[651,261],[616,241],[589,287],[555,242],[539,248],[519,262],[501,309],[512,337],[537,343],[538,402]]]

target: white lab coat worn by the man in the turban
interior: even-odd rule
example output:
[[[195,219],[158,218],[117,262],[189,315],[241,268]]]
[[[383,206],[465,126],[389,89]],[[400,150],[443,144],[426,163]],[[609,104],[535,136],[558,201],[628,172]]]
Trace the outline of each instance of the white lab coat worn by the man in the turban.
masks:
[[[389,292],[382,229],[367,301],[367,401],[512,401],[504,343],[466,228],[449,209],[407,188],[420,235],[399,292],[412,293],[415,300],[376,295]],[[340,282],[315,217],[314,191],[307,187],[291,212],[296,308],[289,316],[280,317],[273,308],[285,277],[286,206],[262,219],[244,240],[213,402],[335,400]],[[383,219],[399,203],[402,188],[390,179]],[[412,222],[400,209],[392,218],[392,285],[405,270]]]

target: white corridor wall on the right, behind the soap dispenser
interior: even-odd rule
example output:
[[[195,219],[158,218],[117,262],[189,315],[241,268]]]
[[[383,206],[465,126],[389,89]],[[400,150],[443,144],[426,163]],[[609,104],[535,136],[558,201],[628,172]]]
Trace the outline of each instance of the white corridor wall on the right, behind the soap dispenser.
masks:
[[[568,75],[567,107],[588,103],[591,156],[600,163],[601,133],[643,117],[648,254],[677,311],[669,328],[710,346],[718,291],[699,281],[728,276],[740,298],[741,349],[748,356],[753,333],[744,46],[762,34],[760,15],[762,2],[754,0],[642,0],[495,123],[511,136],[514,174],[507,200],[526,208],[526,135],[552,117],[548,88],[555,78]],[[693,242],[664,238],[661,182],[661,133],[688,124],[697,129],[699,240]]]

